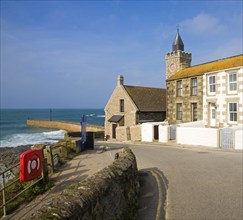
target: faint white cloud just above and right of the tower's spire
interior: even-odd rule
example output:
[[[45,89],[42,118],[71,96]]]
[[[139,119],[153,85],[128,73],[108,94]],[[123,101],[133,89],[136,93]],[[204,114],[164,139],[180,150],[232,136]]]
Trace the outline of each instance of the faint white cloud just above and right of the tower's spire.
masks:
[[[180,26],[187,32],[196,35],[214,35],[224,32],[225,26],[220,23],[218,18],[215,18],[206,13],[200,13],[197,16],[182,21]]]

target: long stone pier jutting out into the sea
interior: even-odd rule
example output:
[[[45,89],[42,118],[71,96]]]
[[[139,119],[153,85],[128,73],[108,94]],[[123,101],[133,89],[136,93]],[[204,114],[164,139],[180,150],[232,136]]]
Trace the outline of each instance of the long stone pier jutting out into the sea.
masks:
[[[67,122],[67,121],[49,121],[49,120],[28,119],[27,125],[34,126],[34,127],[65,130],[65,131],[71,131],[71,132],[80,131],[80,123]],[[104,127],[87,124],[86,131],[90,131],[90,132],[104,131]]]

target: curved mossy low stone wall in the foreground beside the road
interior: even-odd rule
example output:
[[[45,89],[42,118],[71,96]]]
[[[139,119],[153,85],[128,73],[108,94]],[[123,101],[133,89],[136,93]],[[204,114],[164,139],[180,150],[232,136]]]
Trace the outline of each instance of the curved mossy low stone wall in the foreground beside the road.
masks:
[[[125,147],[113,164],[64,190],[27,219],[134,219],[138,181],[136,158]]]

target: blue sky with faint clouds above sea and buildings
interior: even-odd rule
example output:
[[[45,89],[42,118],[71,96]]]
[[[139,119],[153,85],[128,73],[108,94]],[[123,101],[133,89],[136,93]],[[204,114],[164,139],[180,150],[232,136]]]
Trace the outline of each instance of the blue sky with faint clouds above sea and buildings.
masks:
[[[1,108],[104,108],[117,84],[165,88],[177,25],[192,65],[243,53],[241,0],[1,0]]]

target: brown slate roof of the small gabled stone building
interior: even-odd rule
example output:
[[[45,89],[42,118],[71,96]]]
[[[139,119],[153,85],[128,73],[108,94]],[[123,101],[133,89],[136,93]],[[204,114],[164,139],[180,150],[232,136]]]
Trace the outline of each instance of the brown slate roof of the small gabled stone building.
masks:
[[[166,111],[166,89],[124,85],[141,112]]]

